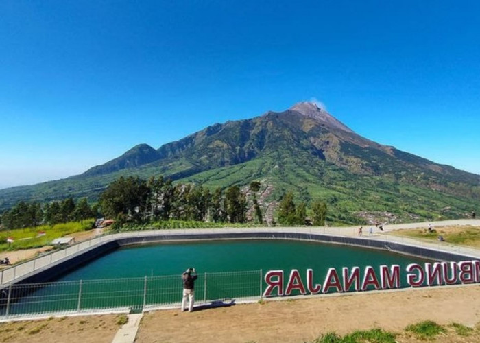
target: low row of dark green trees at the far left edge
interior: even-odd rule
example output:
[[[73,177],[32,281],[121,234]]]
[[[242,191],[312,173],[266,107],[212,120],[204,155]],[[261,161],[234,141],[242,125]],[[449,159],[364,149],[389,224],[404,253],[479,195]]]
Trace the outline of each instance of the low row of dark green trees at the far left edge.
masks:
[[[12,209],[2,213],[0,223],[4,230],[43,224],[54,225],[90,219],[97,216],[97,211],[97,206],[88,205],[86,198],[82,198],[77,202],[73,198],[67,198],[46,204],[21,201]]]

